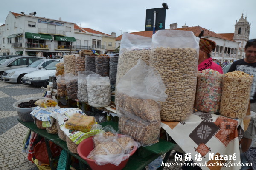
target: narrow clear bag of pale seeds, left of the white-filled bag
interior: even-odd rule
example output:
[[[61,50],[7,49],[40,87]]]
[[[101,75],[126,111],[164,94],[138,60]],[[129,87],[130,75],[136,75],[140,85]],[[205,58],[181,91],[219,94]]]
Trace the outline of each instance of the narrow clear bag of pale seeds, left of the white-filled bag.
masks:
[[[95,74],[92,71],[79,71],[78,72],[78,81],[77,81],[77,98],[81,102],[88,102],[88,93],[87,93],[87,80],[86,77],[90,74]]]

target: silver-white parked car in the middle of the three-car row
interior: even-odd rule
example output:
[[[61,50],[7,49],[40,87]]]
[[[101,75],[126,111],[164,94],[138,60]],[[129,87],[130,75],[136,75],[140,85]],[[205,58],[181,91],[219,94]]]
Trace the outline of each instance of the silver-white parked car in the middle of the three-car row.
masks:
[[[23,84],[22,78],[25,74],[45,68],[47,65],[56,60],[58,59],[39,59],[26,67],[6,70],[2,76],[3,81]]]

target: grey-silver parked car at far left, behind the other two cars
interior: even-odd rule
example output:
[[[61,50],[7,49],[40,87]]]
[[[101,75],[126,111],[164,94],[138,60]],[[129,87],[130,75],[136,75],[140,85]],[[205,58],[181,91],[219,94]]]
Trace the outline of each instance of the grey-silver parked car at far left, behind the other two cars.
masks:
[[[14,68],[26,67],[38,59],[45,59],[45,57],[32,56],[16,56],[0,64],[0,80],[3,80],[3,72]]]

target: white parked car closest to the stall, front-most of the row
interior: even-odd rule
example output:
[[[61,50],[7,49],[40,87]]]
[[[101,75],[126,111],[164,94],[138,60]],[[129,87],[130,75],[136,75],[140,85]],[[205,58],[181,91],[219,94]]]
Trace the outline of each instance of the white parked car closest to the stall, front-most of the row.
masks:
[[[56,64],[63,62],[63,59],[57,59],[56,61],[47,65],[44,69],[33,71],[29,74],[23,76],[23,83],[26,85],[44,86],[49,84],[49,77],[55,76],[56,74]]]

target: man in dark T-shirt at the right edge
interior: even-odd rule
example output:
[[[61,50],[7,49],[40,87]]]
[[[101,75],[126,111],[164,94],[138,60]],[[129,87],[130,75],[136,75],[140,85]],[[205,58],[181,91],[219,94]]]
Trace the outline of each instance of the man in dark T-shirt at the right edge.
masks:
[[[256,112],[256,39],[248,40],[244,50],[246,58],[233,62],[228,72],[239,70],[253,75],[253,84],[250,92],[250,107],[251,111]],[[244,132],[241,142],[243,152],[249,149],[255,134],[256,118],[251,118],[248,129]]]

